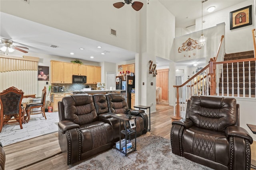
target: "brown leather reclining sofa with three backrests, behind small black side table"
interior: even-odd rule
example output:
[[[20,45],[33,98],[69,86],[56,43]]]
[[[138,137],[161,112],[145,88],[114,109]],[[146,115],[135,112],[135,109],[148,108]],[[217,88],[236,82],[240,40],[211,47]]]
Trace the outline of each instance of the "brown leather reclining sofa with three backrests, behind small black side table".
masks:
[[[117,93],[76,94],[58,102],[58,138],[67,164],[112,148],[119,140],[120,121],[110,119],[111,115],[127,111],[124,96]],[[136,116],[137,137],[146,133],[147,114],[142,110],[132,110],[131,114]]]

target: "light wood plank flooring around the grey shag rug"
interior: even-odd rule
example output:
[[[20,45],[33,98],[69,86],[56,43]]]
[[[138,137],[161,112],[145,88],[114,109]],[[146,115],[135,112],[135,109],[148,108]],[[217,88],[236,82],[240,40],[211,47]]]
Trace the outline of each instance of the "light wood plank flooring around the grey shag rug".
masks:
[[[151,113],[150,133],[170,139],[173,107],[160,102],[156,112]],[[252,158],[256,163],[256,142],[252,147]],[[67,170],[76,164],[68,166],[60,151],[58,132],[28,139],[4,147],[6,153],[6,170]],[[78,162],[77,164],[79,164]]]

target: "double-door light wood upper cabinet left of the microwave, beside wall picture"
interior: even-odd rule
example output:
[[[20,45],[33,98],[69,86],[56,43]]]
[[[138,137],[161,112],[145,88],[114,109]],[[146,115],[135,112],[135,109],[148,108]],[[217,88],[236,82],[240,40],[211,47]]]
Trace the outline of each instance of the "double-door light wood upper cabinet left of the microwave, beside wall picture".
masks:
[[[71,84],[72,83],[72,63],[51,61],[51,83]]]

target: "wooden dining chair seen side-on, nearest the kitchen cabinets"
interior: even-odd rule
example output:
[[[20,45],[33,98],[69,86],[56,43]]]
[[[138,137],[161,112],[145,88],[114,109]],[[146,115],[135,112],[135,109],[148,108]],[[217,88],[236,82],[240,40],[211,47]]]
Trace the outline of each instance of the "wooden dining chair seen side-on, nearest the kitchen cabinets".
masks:
[[[46,86],[44,86],[44,89],[42,90],[41,102],[26,104],[26,113],[27,113],[26,122],[27,123],[30,120],[30,114],[34,115],[34,114],[42,113],[43,117],[46,119],[46,115],[45,115],[45,111],[44,111],[45,99],[46,99]],[[34,108],[39,108],[40,110],[32,111],[32,109],[34,109]]]

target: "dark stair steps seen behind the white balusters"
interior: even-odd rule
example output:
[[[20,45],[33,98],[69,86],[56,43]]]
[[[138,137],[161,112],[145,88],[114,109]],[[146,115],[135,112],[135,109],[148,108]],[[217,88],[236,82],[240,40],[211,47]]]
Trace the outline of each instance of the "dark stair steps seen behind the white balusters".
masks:
[[[237,60],[237,59],[248,59],[254,58],[254,51],[244,51],[239,53],[230,53],[224,56],[224,61]],[[239,69],[239,70],[237,70]],[[228,74],[227,74],[228,71]],[[250,79],[249,79],[250,73]],[[239,74],[239,76],[238,76]],[[227,78],[228,75],[228,78]],[[239,81],[239,94],[243,96],[249,95],[249,87],[251,88],[251,95],[255,95],[255,61],[250,61],[250,70],[249,70],[249,61],[244,62],[244,72],[243,72],[243,62],[233,63],[233,77],[234,77],[234,95],[238,94],[238,81]],[[239,77],[239,78],[238,78]],[[250,82],[249,82],[250,80]],[[224,94],[232,94],[232,63],[223,64],[223,82],[222,74],[220,74],[219,80],[219,93],[222,94],[222,84],[224,88]],[[228,92],[227,92],[228,85]],[[245,88],[243,88],[245,87]]]

